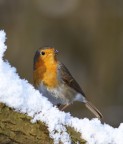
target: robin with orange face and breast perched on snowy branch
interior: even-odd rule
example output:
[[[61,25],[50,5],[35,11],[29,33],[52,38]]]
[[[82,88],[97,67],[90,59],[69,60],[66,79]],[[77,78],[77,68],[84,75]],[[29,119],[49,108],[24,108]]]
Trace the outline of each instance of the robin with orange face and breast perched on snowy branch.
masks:
[[[54,105],[65,110],[75,101],[85,106],[97,117],[101,112],[87,99],[80,85],[67,67],[58,60],[59,51],[53,47],[39,48],[33,61],[33,82],[36,89]]]

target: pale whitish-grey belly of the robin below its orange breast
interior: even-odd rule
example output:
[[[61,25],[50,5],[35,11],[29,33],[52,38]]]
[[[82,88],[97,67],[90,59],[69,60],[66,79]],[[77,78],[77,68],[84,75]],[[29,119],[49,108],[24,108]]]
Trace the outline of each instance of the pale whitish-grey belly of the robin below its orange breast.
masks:
[[[39,86],[39,91],[47,97],[54,105],[70,104],[73,101],[85,102],[85,98],[65,84],[60,84],[57,88],[46,88],[43,84]]]

